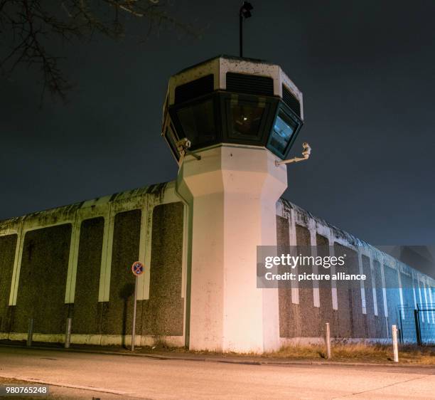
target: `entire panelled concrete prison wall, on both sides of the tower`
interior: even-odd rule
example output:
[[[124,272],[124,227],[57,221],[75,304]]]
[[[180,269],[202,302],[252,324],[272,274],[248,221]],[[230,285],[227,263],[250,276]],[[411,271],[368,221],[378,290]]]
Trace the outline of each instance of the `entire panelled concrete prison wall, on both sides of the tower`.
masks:
[[[289,201],[276,209],[279,247],[346,254],[355,269],[347,272],[371,282],[279,288],[282,344],[322,340],[325,322],[338,339],[387,340],[399,325],[398,307],[435,302],[426,275]],[[0,221],[0,338],[26,339],[33,318],[34,340],[63,342],[72,317],[73,343],[128,344],[130,268],[140,260],[146,272],[138,278],[137,343],[185,345],[185,213],[171,182]],[[421,317],[435,329],[434,311]]]

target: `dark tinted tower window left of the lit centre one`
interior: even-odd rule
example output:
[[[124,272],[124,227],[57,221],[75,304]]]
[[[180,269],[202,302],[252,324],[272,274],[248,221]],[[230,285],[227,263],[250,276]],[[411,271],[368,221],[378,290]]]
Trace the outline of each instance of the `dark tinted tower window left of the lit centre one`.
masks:
[[[184,135],[198,145],[215,140],[216,128],[213,112],[213,100],[206,100],[177,112],[178,120],[183,128]]]

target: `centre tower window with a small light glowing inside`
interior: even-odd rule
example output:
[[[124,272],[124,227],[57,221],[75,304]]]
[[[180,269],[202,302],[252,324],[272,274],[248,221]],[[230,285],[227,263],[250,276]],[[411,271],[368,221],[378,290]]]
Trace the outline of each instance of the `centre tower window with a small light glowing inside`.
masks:
[[[264,107],[232,104],[230,111],[232,118],[232,136],[258,136],[260,123],[262,122],[264,114]]]

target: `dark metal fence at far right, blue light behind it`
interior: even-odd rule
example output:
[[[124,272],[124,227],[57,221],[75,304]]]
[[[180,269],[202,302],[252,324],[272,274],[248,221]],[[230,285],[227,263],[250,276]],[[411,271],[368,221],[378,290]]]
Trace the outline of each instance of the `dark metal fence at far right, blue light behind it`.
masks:
[[[435,344],[435,304],[397,307],[400,342]]]

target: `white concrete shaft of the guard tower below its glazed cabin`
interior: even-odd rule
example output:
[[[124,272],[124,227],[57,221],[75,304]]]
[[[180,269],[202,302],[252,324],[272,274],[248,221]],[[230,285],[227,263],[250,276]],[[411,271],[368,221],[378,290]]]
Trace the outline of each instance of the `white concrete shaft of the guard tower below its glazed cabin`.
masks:
[[[193,198],[189,347],[278,349],[278,290],[257,289],[257,246],[276,246],[286,167],[261,147],[224,144],[198,154],[178,173]]]

